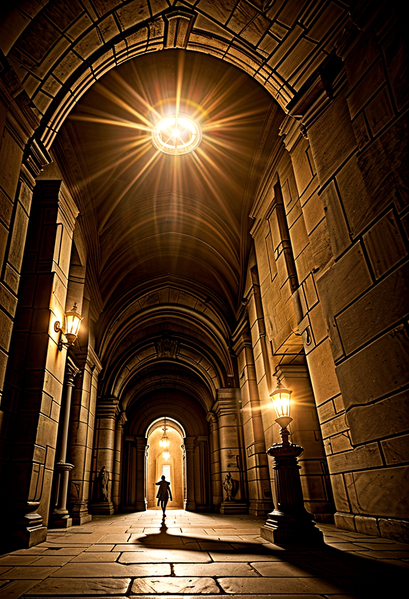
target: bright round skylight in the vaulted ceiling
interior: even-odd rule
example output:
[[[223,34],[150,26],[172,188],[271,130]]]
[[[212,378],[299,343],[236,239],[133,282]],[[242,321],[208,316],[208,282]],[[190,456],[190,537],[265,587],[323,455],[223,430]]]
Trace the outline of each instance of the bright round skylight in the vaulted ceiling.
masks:
[[[200,141],[199,125],[185,114],[161,119],[152,131],[154,146],[165,154],[187,154],[199,146]]]

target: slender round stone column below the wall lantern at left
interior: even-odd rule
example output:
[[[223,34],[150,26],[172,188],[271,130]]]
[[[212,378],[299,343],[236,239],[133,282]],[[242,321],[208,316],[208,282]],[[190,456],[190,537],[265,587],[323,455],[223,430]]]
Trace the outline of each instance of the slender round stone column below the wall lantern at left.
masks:
[[[56,482],[56,497],[57,504],[53,511],[53,527],[68,528],[72,525],[72,518],[69,517],[67,509],[67,494],[69,473],[74,468],[74,464],[66,462],[68,449],[68,429],[69,429],[69,414],[71,411],[72,389],[74,388],[74,379],[80,374],[80,369],[75,366],[71,358],[67,358],[65,371],[65,401],[63,402],[62,411],[60,413],[60,450],[58,461],[56,462],[57,482]]]

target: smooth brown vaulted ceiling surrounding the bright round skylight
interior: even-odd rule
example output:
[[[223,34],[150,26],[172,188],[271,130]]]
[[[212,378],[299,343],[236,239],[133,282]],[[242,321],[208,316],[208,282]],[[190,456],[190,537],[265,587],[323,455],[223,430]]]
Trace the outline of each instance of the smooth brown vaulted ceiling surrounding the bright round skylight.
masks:
[[[182,156],[158,152],[151,140],[158,115],[173,114],[176,105],[203,131],[200,146]],[[130,60],[83,96],[55,155],[80,189],[81,222],[97,234],[106,307],[167,276],[198,298],[207,289],[233,322],[249,250],[243,201],[255,193],[258,181],[249,189],[249,175],[271,111],[277,130],[282,111],[260,84],[185,50]]]

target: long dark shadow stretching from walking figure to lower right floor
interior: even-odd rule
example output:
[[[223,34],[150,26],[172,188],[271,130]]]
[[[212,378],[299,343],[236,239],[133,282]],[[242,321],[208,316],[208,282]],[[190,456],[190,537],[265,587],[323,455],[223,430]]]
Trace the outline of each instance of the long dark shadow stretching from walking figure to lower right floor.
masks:
[[[230,541],[213,537],[187,537],[183,534],[169,534],[167,530],[163,519],[159,533],[148,534],[136,541],[136,544],[169,550],[195,550],[191,546],[195,540],[202,544],[209,543],[212,546],[211,549],[201,550],[223,556],[231,555],[231,561],[251,563],[252,567],[263,576],[294,577],[294,580],[305,578],[309,588],[311,585],[314,586],[311,579],[318,579],[316,590],[311,588],[311,590],[303,591],[309,594],[347,593],[350,597],[357,599],[377,599],[407,588],[409,580],[409,570],[404,567],[385,564],[377,559],[361,558],[346,551],[334,549],[325,543],[309,547],[270,543],[264,545],[258,541],[243,541],[243,543],[234,542],[233,546]],[[227,547],[228,545],[230,548]],[[237,559],[240,555],[243,555],[243,560]],[[263,561],[263,557],[265,561]],[[229,560],[224,558],[223,561]],[[299,583],[297,583],[297,588],[299,588]],[[277,593],[277,590],[274,590],[273,581],[269,592]],[[300,591],[294,589],[289,592],[299,593]]]

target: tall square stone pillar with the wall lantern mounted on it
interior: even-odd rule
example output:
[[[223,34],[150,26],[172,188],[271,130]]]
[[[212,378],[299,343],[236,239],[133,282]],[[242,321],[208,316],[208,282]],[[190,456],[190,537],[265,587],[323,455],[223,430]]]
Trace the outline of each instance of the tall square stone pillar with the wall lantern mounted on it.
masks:
[[[2,398],[8,426],[16,431],[2,488],[7,489],[11,537],[22,546],[41,543],[47,534],[66,365],[54,323],[62,322],[65,312],[77,214],[62,181],[36,184]]]

